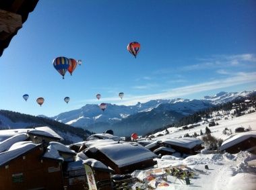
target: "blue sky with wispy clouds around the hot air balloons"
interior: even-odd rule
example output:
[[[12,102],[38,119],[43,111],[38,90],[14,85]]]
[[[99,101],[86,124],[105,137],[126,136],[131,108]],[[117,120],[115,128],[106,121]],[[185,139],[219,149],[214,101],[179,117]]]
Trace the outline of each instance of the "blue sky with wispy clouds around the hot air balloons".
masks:
[[[136,59],[127,51],[133,41],[141,44]],[[63,80],[53,67],[57,56],[83,63]],[[40,0],[0,65],[0,109],[32,115],[251,91],[256,1]]]

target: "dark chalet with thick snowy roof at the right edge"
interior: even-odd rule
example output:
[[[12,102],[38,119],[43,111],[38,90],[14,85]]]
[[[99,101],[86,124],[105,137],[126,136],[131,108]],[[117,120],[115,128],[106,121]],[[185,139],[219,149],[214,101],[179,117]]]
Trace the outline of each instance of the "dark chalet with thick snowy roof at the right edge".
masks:
[[[220,150],[230,154],[236,154],[241,150],[256,153],[256,132],[232,134],[224,140]]]

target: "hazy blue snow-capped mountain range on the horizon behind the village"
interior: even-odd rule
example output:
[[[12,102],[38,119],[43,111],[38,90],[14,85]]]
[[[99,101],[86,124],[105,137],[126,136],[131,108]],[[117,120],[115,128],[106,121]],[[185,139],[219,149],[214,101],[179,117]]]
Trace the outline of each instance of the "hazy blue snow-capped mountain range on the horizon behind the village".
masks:
[[[99,109],[96,104],[87,104],[80,109],[60,113],[52,119],[96,133],[111,129],[117,136],[129,136],[133,132],[143,135],[177,122],[196,111],[255,93],[256,91],[222,91],[214,96],[205,96],[201,100],[157,99],[129,106],[107,103],[105,111]]]

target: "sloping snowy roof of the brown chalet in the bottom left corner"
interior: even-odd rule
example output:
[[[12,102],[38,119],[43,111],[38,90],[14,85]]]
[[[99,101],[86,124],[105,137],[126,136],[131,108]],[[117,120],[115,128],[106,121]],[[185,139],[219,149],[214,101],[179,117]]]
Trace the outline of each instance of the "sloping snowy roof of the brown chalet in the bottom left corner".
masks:
[[[39,145],[38,145],[39,146]],[[36,144],[31,141],[16,142],[9,148],[9,150],[0,153],[0,166],[6,164],[7,162],[25,154],[26,152],[32,150],[36,147]]]

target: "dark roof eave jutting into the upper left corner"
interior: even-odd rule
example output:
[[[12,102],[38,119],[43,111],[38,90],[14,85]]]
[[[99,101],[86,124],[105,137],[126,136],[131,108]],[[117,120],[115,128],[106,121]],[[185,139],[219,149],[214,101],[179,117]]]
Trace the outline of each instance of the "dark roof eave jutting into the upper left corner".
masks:
[[[28,19],[28,14],[34,11],[37,3],[38,0],[0,1],[0,56]]]

